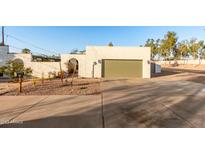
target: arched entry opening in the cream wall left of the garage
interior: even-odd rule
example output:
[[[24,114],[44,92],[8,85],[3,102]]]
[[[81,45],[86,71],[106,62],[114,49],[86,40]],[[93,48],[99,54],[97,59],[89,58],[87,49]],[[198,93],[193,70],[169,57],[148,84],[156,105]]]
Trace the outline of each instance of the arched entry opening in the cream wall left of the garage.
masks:
[[[78,68],[79,63],[76,58],[71,58],[67,63],[68,68],[68,74],[69,76],[74,75],[75,77],[78,77]]]

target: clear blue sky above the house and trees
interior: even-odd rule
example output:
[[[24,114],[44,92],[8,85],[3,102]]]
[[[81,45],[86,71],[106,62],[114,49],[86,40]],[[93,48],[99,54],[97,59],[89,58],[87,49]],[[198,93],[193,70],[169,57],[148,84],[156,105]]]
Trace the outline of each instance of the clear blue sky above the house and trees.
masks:
[[[17,48],[29,48],[42,54],[69,53],[72,49],[83,50],[87,45],[107,45],[110,41],[116,46],[143,45],[148,38],[163,38],[167,31],[175,31],[180,40],[197,38],[205,40],[205,27],[189,26],[12,26],[5,27],[5,33],[36,46],[52,51],[40,50],[27,43],[6,37],[6,43]],[[19,51],[10,48],[10,51]]]

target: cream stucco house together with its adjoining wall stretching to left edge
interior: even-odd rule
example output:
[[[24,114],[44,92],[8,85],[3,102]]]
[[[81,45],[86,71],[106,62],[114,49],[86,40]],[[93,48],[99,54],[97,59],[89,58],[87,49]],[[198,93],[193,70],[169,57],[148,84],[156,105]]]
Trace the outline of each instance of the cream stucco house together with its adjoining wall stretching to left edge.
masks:
[[[21,59],[31,67],[33,76],[48,77],[60,72],[60,62],[34,62],[31,54],[11,54],[9,46],[0,46],[0,66],[8,60]],[[78,76],[85,78],[150,78],[149,47],[88,46],[82,54],[61,54],[62,70],[76,60]]]

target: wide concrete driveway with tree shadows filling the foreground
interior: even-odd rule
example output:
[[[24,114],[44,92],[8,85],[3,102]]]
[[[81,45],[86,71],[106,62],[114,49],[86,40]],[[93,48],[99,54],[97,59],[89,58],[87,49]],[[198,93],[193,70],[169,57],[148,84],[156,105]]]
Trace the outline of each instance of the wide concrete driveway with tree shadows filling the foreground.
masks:
[[[1,96],[1,127],[205,127],[205,73],[108,80],[102,94]],[[103,106],[102,106],[103,103]]]

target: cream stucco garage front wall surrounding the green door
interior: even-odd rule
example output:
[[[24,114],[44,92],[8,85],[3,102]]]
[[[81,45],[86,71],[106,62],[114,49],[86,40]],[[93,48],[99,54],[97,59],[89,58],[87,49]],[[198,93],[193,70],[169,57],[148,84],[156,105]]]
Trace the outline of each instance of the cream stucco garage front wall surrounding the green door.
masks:
[[[133,59],[143,61],[143,78],[150,78],[150,48],[88,46],[86,48],[86,77],[102,76],[102,59]]]

